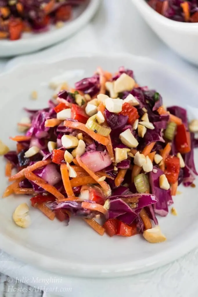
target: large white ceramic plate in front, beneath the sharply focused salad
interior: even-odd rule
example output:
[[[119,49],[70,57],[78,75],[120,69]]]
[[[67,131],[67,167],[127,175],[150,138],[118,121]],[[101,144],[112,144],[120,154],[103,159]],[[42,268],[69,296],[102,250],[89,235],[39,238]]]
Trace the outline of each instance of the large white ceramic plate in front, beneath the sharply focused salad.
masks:
[[[15,149],[8,137],[17,133],[16,123],[24,114],[22,108],[45,107],[51,95],[48,82],[52,78],[67,79],[73,85],[76,80],[92,75],[98,65],[112,72],[121,65],[133,69],[141,85],[155,88],[162,94],[164,104],[184,106],[191,116],[196,115],[197,88],[153,60],[127,54],[75,57],[52,64],[18,67],[0,76],[1,139],[10,149]],[[30,99],[33,90],[39,94],[36,101]],[[196,160],[197,157],[196,153]],[[7,186],[4,165],[2,158],[1,193]],[[156,268],[198,244],[197,191],[184,187],[180,187],[180,191],[183,194],[174,198],[178,217],[171,214],[159,217],[161,229],[167,236],[167,241],[161,244],[149,244],[140,235],[100,237],[79,219],[71,219],[69,227],[65,227],[64,223],[52,222],[33,208],[30,211],[32,225],[22,229],[13,223],[12,213],[22,202],[30,205],[29,199],[1,199],[0,248],[24,262],[66,275],[114,277]]]

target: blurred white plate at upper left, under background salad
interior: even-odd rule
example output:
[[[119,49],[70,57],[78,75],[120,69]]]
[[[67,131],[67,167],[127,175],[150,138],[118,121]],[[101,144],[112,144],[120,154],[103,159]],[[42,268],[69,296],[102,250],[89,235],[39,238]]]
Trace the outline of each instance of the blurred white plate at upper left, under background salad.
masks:
[[[73,18],[65,22],[64,26],[43,33],[24,33],[22,38],[16,41],[0,40],[0,57],[9,57],[31,53],[60,42],[89,22],[98,9],[100,0],[86,0],[81,5],[73,8]]]

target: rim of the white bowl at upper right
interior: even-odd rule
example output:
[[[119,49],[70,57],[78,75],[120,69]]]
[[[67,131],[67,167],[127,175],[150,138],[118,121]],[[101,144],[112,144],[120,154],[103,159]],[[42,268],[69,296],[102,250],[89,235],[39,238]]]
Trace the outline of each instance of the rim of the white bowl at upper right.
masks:
[[[198,31],[198,23],[183,23],[178,22],[176,20],[170,20],[169,18],[166,18],[164,15],[161,15],[160,13],[156,12],[152,7],[150,7],[146,0],[131,0],[133,4],[144,13],[149,13],[153,15],[153,18],[155,18],[156,21],[161,22],[165,26],[174,27],[175,29],[178,29],[180,31]]]

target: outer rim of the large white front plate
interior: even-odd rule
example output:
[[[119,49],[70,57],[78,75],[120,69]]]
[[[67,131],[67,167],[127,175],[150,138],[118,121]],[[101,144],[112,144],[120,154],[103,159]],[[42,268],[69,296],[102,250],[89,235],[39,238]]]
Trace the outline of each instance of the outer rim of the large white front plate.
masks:
[[[154,64],[157,67],[161,67],[163,71],[166,71],[168,73],[172,72],[172,74],[177,75],[177,78],[181,80],[181,83],[183,82],[185,85],[188,85],[190,88],[193,88],[193,91],[197,91],[198,93],[198,87],[195,83],[192,83],[189,80],[186,80],[179,72],[175,71],[175,69],[171,69],[167,65],[163,65],[158,61],[155,61],[153,59],[144,57],[144,56],[136,56],[129,53],[117,53],[117,54],[84,54],[84,55],[73,55],[73,56],[67,56],[65,59],[56,59],[53,61],[48,62],[42,62],[44,65],[50,65],[50,64],[56,64],[60,61],[67,61],[68,59],[89,59],[89,58],[105,58],[105,59],[116,59],[116,58],[122,58],[123,59],[130,59],[130,60],[143,60],[147,61],[150,64]],[[9,69],[6,72],[0,74],[1,77],[9,76],[10,74],[15,75],[18,71],[24,71],[26,68],[30,67],[41,67],[41,63],[30,63],[30,64],[22,64],[14,67],[13,69]],[[62,259],[55,259],[50,256],[42,255],[40,252],[32,251],[31,249],[28,249],[18,243],[15,243],[15,249],[12,249],[13,241],[8,238],[5,234],[0,233],[0,249],[4,250],[8,254],[16,257],[19,260],[22,260],[28,264],[38,266],[39,268],[42,268],[44,270],[53,271],[56,273],[63,273],[68,276],[75,276],[75,277],[92,277],[92,278],[103,278],[103,277],[123,277],[123,276],[129,276],[133,274],[138,274],[141,272],[146,272],[149,270],[152,270],[154,268],[159,268],[160,266],[164,266],[165,264],[168,264],[174,260],[177,260],[179,257],[182,257],[183,255],[190,252],[192,249],[194,249],[198,245],[198,225],[195,224],[194,232],[188,234],[186,236],[185,240],[182,239],[182,247],[178,249],[177,245],[174,247],[169,247],[166,252],[159,252],[155,259],[152,257],[147,257],[146,261],[144,260],[142,263],[142,260],[138,260],[135,263],[134,262],[128,262],[128,263],[122,263],[122,264],[111,264],[111,265],[94,265],[94,264],[74,264],[69,263],[68,261],[64,261]],[[151,261],[152,260],[152,261]],[[65,267],[65,265],[67,267]],[[119,267],[118,267],[119,266]]]

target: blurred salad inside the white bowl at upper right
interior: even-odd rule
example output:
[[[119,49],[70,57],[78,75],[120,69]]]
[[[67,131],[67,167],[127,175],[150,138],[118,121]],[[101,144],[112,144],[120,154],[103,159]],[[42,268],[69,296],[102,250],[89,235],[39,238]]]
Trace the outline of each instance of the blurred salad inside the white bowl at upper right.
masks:
[[[178,22],[198,22],[197,0],[147,0],[148,4],[166,18]]]

